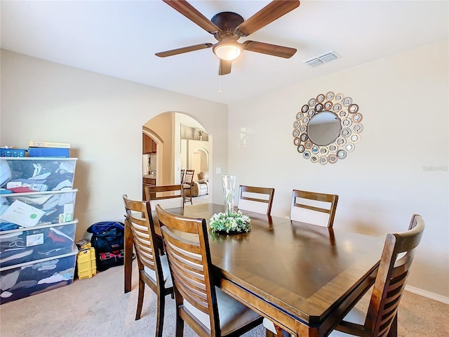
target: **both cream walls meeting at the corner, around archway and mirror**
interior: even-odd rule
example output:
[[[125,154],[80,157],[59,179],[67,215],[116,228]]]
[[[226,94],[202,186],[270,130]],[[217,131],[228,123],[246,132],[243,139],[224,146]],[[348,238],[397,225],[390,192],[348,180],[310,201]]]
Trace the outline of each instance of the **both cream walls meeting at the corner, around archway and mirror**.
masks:
[[[354,98],[364,131],[347,159],[321,166],[297,154],[292,131],[301,105],[327,91]],[[229,119],[225,105],[1,51],[0,143],[72,143],[80,237],[94,222],[122,219],[121,194],[140,197],[142,125],[185,112],[213,138],[209,173],[220,167],[237,184],[275,187],[274,216],[288,216],[293,188],[339,194],[337,229],[384,237],[422,214],[427,228],[409,284],[449,298],[448,92],[448,41],[298,79],[230,105]]]

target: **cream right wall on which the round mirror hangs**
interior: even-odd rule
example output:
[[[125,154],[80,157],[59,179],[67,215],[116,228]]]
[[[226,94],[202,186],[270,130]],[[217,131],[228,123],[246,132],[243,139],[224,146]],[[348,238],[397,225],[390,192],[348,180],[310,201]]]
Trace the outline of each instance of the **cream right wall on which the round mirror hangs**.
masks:
[[[300,107],[327,91],[360,105],[364,130],[354,152],[323,166],[297,153],[292,131]],[[422,214],[427,227],[409,284],[447,300],[448,93],[448,41],[298,79],[229,105],[229,170],[237,185],[276,188],[274,216],[288,216],[294,188],[339,194],[336,229],[384,237]]]

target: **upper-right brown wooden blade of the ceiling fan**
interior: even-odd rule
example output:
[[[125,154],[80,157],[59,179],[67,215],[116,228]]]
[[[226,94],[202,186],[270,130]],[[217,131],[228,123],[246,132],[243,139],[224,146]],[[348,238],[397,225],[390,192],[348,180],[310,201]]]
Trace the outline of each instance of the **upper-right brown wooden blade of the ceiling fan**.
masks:
[[[236,30],[240,32],[239,34],[241,34],[242,37],[247,37],[249,34],[253,34],[253,32],[268,25],[270,22],[281,18],[282,15],[293,11],[293,9],[298,6],[300,6],[299,0],[274,0],[248,18],[248,20],[242,22]]]

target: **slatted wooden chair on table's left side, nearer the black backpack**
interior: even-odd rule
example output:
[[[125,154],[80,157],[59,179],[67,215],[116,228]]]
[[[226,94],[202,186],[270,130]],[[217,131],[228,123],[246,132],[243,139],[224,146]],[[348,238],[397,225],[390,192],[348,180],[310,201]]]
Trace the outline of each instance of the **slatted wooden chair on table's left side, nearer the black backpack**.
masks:
[[[165,296],[173,297],[173,280],[166,255],[160,255],[161,241],[156,239],[154,225],[151,217],[149,201],[136,201],[128,199],[123,194],[123,203],[126,209],[126,225],[133,235],[135,255],[139,270],[138,308],[135,319],[140,319],[142,313],[145,284],[157,296],[156,337],[162,337]]]

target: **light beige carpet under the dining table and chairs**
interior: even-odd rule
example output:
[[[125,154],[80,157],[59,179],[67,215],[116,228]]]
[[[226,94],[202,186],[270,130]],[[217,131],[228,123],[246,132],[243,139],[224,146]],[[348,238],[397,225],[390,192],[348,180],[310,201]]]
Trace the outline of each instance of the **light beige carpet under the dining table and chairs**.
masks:
[[[137,275],[133,290],[123,293],[123,267],[113,267],[91,279],[0,305],[1,337],[154,336],[156,296],[147,287],[142,318],[135,321]],[[366,303],[362,303],[362,306]],[[449,305],[406,292],[398,316],[398,336],[449,336]],[[166,297],[164,337],[175,336],[175,301]],[[185,336],[196,334],[185,326]],[[245,337],[263,337],[257,326]]]

